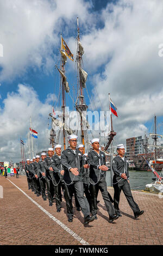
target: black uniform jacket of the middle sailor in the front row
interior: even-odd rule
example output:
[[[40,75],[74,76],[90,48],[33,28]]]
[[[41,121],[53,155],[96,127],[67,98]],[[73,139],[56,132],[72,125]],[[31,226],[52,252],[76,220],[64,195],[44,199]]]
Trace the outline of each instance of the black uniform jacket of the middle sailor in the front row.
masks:
[[[98,169],[99,166],[103,166],[106,163],[105,153],[99,151],[99,155],[96,151],[92,150],[87,154],[87,161],[90,164],[90,182],[96,183],[100,178],[106,177],[106,172]]]

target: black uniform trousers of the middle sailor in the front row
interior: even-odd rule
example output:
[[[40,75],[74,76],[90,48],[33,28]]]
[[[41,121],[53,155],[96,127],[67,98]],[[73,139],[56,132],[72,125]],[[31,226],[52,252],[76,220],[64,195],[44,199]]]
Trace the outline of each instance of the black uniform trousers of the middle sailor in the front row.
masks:
[[[93,182],[91,182],[93,183]],[[106,210],[108,211],[109,216],[115,214],[114,206],[110,202],[110,198],[108,196],[108,190],[106,185],[105,177],[101,177],[96,185],[92,185],[90,183],[90,194],[91,194],[91,213],[92,215],[97,214],[97,195],[98,190],[101,191],[102,197],[104,199],[104,203],[106,206]]]

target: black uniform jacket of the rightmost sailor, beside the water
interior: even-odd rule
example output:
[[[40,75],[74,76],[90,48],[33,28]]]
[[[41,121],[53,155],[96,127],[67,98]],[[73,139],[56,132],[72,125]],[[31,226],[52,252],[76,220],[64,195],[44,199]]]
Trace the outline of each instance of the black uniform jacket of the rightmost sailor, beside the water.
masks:
[[[121,174],[124,173],[125,169],[127,178],[129,178],[128,167],[129,163],[126,157],[124,157],[124,161],[120,156],[114,157],[114,159],[112,160],[112,170],[114,172],[114,179],[116,179],[117,181],[120,180]]]

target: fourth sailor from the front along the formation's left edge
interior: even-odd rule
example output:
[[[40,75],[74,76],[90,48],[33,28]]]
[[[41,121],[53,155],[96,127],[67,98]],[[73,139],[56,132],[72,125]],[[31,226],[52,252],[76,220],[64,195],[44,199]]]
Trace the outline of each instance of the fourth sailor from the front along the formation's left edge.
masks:
[[[45,181],[45,167],[43,165],[44,159],[46,158],[46,153],[41,153],[41,160],[37,163],[37,176],[39,176],[41,194],[44,201],[46,201],[46,181]]]

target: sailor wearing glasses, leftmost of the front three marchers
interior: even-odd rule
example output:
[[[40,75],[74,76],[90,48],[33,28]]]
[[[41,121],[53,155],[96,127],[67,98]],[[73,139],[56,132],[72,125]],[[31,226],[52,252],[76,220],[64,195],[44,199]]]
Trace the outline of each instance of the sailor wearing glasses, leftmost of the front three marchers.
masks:
[[[77,198],[84,215],[84,224],[95,220],[95,216],[90,217],[90,206],[84,197],[84,188],[82,181],[83,157],[77,149],[76,135],[68,136],[70,147],[62,151],[61,164],[64,168],[65,181],[65,200],[67,206],[68,221],[73,221],[72,194],[76,191]]]

